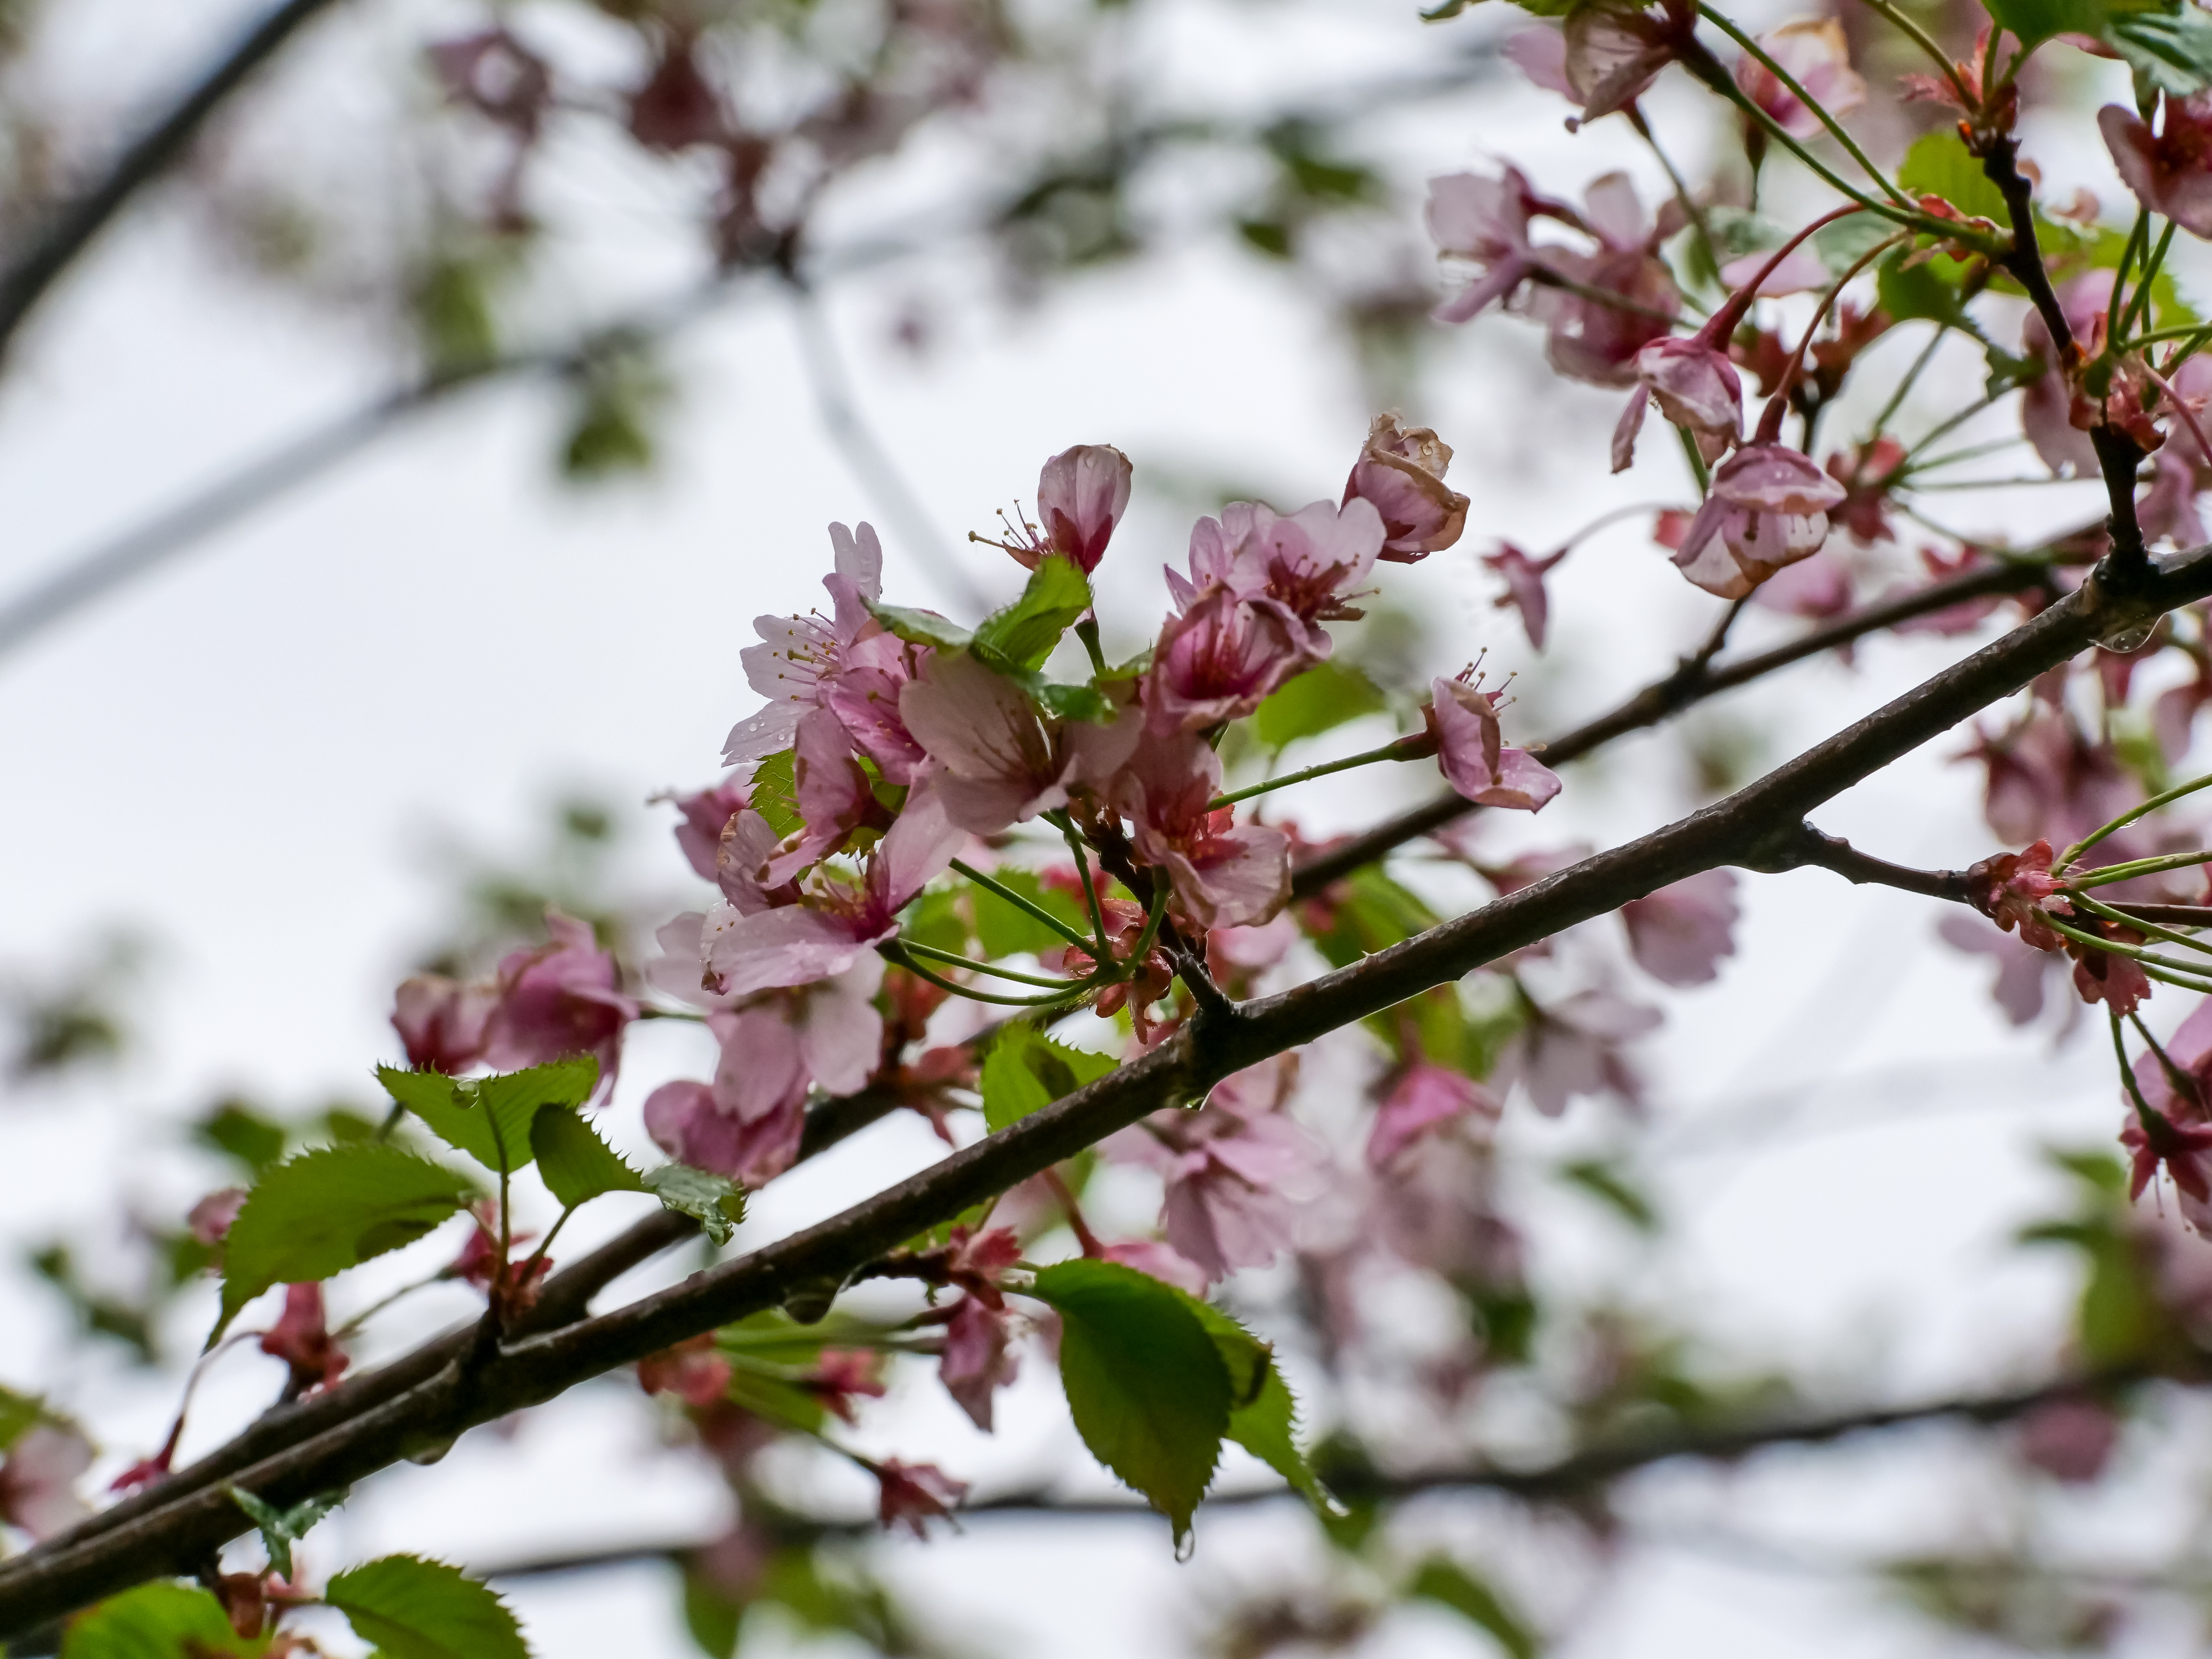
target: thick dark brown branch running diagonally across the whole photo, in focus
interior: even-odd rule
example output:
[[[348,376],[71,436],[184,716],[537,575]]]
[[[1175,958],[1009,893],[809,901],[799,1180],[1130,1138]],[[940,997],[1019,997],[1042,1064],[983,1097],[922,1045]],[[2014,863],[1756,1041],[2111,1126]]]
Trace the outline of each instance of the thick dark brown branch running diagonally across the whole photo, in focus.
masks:
[[[237,1484],[268,1502],[294,1504],[365,1480],[400,1458],[436,1455],[476,1425],[542,1405],[591,1376],[745,1314],[787,1301],[827,1305],[825,1292],[925,1228],[1150,1110],[1203,1095],[1232,1071],[1458,980],[1683,876],[1730,863],[1756,869],[1787,854],[1801,841],[1805,814],[1823,801],[2097,639],[2148,626],[2205,595],[2212,595],[2212,549],[2152,568],[2148,580],[2124,591],[2108,588],[2099,568],[2033,622],[1728,801],[1294,991],[1243,1004],[1223,1020],[1194,1022],[1119,1071],[827,1221],[626,1307],[502,1347],[473,1371],[449,1365],[420,1387],[243,1469]],[[241,1531],[243,1513],[223,1491],[199,1491],[80,1544],[20,1555],[0,1564],[0,1637],[128,1584],[190,1571]]]

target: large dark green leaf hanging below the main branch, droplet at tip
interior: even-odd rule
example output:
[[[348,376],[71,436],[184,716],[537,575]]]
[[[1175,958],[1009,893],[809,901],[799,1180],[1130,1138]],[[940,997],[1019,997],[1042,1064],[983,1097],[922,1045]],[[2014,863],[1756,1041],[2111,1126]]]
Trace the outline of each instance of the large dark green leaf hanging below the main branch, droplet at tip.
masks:
[[[1062,1261],[1031,1294],[1060,1310],[1075,1431],[1181,1542],[1230,1427],[1230,1367],[1212,1332],[1179,1290],[1110,1261]]]

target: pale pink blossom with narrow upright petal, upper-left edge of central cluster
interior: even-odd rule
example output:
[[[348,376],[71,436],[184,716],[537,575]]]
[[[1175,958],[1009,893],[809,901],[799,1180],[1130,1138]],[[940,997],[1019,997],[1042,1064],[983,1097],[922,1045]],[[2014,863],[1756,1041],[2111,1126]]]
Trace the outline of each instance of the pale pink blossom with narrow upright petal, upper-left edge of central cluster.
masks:
[[[922,752],[898,723],[898,690],[911,679],[920,648],[905,644],[869,613],[883,593],[883,544],[863,524],[858,535],[830,526],[836,568],[823,577],[834,613],[757,617],[759,646],[739,653],[745,679],[768,706],[730,728],[723,759],[761,761],[794,743],[799,717],[827,708],[854,748],[891,783],[911,783]]]

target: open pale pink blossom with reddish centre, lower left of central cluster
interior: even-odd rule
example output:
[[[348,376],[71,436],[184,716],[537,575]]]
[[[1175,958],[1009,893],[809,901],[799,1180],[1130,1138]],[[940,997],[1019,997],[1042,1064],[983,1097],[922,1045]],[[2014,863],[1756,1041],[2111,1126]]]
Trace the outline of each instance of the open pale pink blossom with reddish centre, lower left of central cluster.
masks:
[[[732,818],[723,838],[743,834],[752,816],[741,812]],[[898,911],[953,860],[964,841],[967,832],[945,816],[945,803],[920,785],[863,860],[858,883],[816,865],[796,902],[745,909],[726,898],[708,911],[701,931],[712,989],[743,998],[843,973],[863,951],[898,931]]]

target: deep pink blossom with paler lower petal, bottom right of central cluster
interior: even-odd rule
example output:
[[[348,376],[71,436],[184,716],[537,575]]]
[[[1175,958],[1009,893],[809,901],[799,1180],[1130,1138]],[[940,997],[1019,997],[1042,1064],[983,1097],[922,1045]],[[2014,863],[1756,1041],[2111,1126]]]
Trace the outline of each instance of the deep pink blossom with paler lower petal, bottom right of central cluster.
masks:
[[[1135,825],[1137,854],[1166,872],[1175,902],[1199,927],[1256,927],[1290,898],[1290,836],[1208,812],[1221,757],[1194,732],[1155,739],[1113,783],[1113,805]]]

